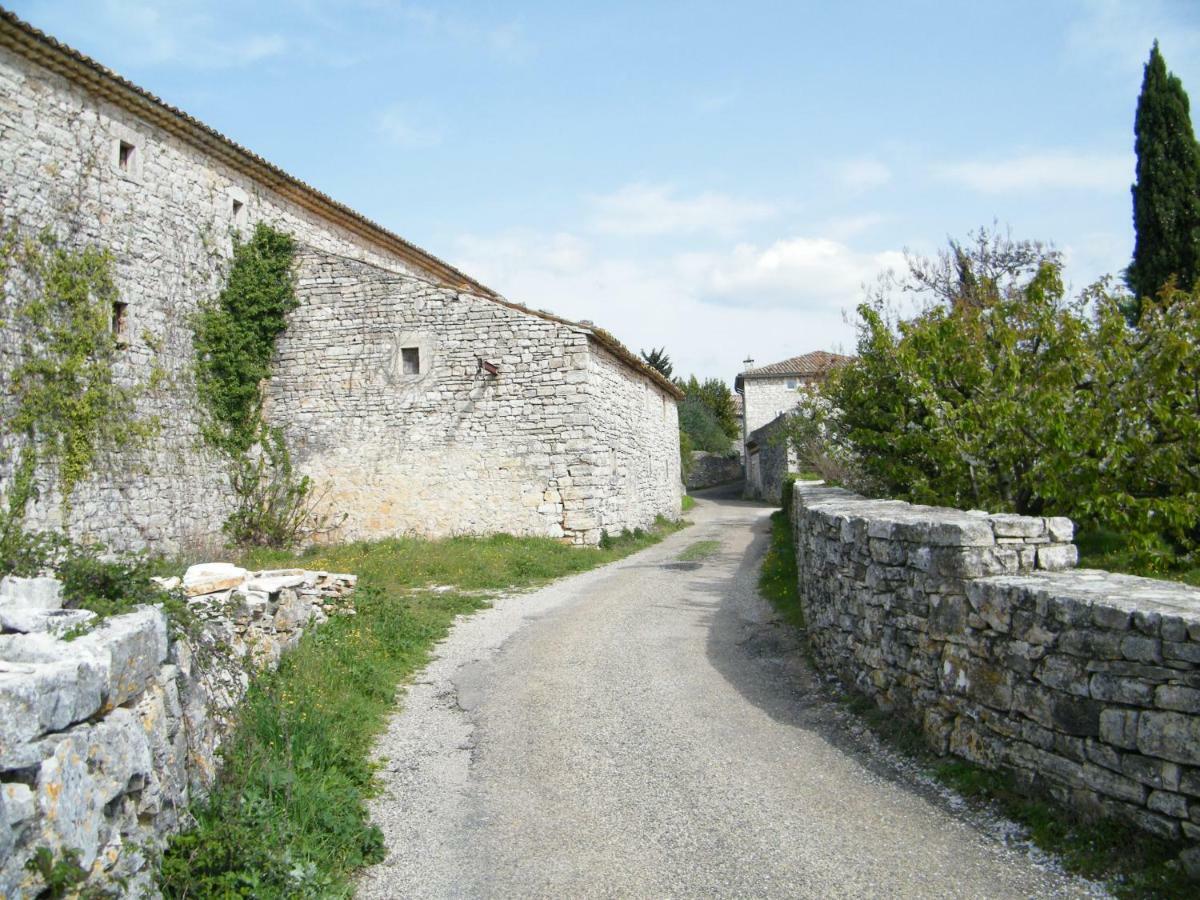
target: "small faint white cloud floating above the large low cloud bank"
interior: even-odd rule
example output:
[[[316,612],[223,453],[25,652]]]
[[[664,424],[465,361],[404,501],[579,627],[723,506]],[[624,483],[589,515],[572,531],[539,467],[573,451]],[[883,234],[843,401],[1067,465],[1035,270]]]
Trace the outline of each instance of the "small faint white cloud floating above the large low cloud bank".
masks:
[[[666,185],[631,184],[592,197],[593,227],[605,234],[648,236],[664,234],[736,234],[746,224],[776,215],[772,204],[704,192],[677,197]]]

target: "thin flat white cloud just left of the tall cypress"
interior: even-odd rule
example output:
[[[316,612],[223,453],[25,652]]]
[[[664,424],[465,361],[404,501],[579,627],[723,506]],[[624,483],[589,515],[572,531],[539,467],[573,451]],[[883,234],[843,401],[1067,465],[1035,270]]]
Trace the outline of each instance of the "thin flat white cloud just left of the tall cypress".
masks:
[[[1128,191],[1134,176],[1133,154],[1051,151],[1007,160],[947,163],[935,173],[984,193],[1007,191],[1080,190]]]

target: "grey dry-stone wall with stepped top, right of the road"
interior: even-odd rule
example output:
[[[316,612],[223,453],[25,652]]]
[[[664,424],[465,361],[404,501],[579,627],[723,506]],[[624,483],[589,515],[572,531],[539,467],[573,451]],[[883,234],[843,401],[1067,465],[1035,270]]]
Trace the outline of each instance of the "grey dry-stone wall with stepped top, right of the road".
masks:
[[[821,668],[1031,796],[1200,841],[1200,590],[1074,569],[1067,518],[794,491]]]

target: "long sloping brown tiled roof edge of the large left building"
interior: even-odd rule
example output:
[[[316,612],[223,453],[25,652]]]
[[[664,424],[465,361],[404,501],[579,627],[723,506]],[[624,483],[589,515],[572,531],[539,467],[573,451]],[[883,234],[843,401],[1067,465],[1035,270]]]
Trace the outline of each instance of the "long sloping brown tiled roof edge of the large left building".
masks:
[[[595,341],[612,353],[629,368],[646,376],[677,400],[683,398],[683,391],[672,384],[671,379],[665,378],[653,366],[648,366],[604,329],[571,322],[570,319],[564,319],[541,310],[530,310],[522,304],[515,304],[504,299],[486,284],[475,281],[449,263],[438,259],[432,253],[421,250],[415,244],[404,240],[398,234],[388,230],[362,214],[338,203],[294,175],[289,175],[280,167],[247,150],[241,144],[230,140],[215,128],[211,128],[184,110],[163,102],[150,91],[122,78],[90,56],[50,37],[44,31],[34,28],[2,7],[0,7],[0,47],[62,76],[68,82],[83,86],[113,106],[162,128],[168,134],[202,150],[234,172],[264,185],[286,200],[403,259],[414,268],[431,275],[445,287],[475,294],[511,310],[577,328],[587,332],[589,340]]]

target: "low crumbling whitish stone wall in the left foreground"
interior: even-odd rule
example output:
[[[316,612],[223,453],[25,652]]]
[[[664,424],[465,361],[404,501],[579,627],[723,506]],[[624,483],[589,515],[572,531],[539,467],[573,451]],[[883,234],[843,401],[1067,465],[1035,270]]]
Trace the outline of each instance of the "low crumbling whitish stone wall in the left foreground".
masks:
[[[157,606],[73,640],[53,616],[17,617],[24,632],[6,624],[0,896],[38,895],[44,886],[25,864],[40,847],[56,858],[78,851],[88,886],[154,893],[151,860],[216,778],[251,673],[274,668],[310,625],[353,614],[354,584],[353,575],[209,564],[164,582],[196,613],[186,636]],[[0,612],[61,607],[53,578],[0,582]]]

